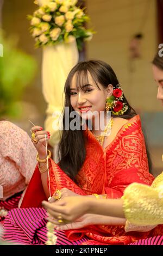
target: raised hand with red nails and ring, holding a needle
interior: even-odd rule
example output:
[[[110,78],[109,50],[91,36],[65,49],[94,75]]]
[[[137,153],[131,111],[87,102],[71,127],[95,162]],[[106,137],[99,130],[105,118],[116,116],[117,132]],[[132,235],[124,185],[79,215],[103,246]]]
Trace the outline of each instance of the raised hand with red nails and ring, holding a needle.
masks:
[[[51,135],[49,132],[44,131],[41,126],[33,126],[31,130],[32,132],[35,133],[35,140],[37,141],[37,143],[34,142],[33,139],[32,139],[32,142],[37,152],[39,153],[39,158],[45,159],[46,158],[46,142],[45,141],[48,141]]]

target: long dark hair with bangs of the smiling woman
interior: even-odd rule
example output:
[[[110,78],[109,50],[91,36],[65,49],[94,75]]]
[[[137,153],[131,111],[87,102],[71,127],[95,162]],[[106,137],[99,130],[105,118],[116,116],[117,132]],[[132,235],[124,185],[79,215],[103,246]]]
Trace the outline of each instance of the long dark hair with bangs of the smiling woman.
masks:
[[[112,84],[114,88],[117,88],[119,84],[115,72],[105,62],[99,60],[90,60],[88,62],[78,63],[71,70],[65,83],[64,107],[69,107],[70,113],[74,111],[70,101],[70,87],[72,78],[74,77],[74,74],[76,74],[77,89],[79,87],[82,89],[85,84],[89,84],[87,77],[88,72],[97,84],[97,87],[98,83],[104,88],[107,88],[109,84]],[[136,112],[133,108],[131,108],[125,96],[123,97],[123,102],[127,103],[128,110],[124,115],[118,115],[118,117],[125,119],[133,118],[136,115]],[[76,175],[83,166],[85,156],[86,150],[84,133],[82,130],[65,130],[65,111],[63,111],[63,131],[58,148],[58,157],[60,159],[59,166],[74,182],[77,182]]]

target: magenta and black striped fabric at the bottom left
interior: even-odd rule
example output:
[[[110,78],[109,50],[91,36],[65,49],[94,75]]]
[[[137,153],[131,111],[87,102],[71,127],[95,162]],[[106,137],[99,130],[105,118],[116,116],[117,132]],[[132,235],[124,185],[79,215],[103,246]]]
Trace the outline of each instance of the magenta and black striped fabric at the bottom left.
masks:
[[[46,210],[13,209],[4,220],[4,240],[22,245],[44,245],[47,241]],[[64,231],[57,231],[57,245],[81,245],[88,239],[70,241]]]

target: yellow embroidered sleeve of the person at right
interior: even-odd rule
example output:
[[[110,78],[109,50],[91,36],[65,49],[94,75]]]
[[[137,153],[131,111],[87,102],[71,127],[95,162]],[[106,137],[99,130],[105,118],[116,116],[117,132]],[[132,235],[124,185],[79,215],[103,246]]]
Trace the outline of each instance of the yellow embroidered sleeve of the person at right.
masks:
[[[138,183],[129,185],[122,199],[127,221],[136,225],[163,224],[163,172],[151,187]]]

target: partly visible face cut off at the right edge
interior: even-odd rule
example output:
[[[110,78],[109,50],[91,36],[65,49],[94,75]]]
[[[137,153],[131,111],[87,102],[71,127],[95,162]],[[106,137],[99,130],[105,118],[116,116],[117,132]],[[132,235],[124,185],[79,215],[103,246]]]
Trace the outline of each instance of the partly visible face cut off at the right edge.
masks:
[[[163,70],[157,66],[152,65],[154,80],[158,86],[157,99],[161,101],[163,106]]]

